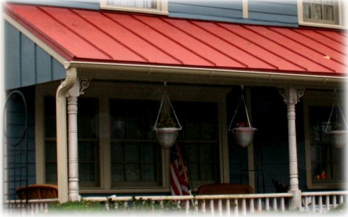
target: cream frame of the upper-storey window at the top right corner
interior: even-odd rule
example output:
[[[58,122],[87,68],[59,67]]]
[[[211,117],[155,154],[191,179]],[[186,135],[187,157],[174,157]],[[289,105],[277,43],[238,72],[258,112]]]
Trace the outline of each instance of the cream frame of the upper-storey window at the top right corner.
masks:
[[[312,27],[320,27],[320,28],[337,28],[337,29],[347,29],[345,27],[346,23],[344,22],[344,3],[343,1],[337,1],[337,5],[335,6],[337,8],[337,24],[328,24],[323,22],[314,22],[314,19],[306,20],[303,18],[303,1],[305,0],[298,0],[297,1],[297,13],[298,13],[298,25],[307,25]],[[312,21],[313,20],[313,21]]]

